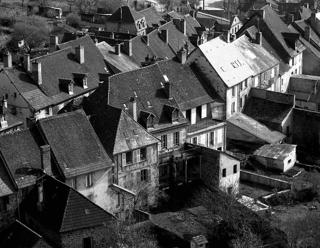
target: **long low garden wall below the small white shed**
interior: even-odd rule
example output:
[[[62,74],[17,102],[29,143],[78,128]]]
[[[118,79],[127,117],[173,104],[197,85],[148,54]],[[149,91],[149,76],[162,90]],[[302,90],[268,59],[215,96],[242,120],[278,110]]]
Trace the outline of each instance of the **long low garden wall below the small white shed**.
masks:
[[[290,183],[278,179],[273,179],[268,176],[258,175],[249,171],[240,170],[240,180],[270,186],[272,188],[277,188],[278,190],[291,189]]]

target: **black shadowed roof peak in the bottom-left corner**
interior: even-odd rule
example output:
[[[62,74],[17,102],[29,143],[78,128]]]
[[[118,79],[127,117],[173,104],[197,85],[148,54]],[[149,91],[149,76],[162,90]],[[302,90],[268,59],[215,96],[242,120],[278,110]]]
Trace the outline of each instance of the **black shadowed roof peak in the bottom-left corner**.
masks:
[[[0,247],[52,248],[39,234],[18,220],[0,233]]]

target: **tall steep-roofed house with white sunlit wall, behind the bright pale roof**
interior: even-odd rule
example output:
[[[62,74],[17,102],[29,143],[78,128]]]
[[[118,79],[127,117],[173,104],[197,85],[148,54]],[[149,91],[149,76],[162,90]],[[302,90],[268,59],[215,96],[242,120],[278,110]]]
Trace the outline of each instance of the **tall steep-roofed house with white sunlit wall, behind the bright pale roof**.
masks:
[[[300,33],[289,28],[269,5],[253,11],[255,13],[243,24],[237,37],[246,33],[255,39],[256,32],[262,32],[262,47],[280,62],[279,92],[287,93],[290,76],[301,74],[303,69],[305,47],[299,41]]]

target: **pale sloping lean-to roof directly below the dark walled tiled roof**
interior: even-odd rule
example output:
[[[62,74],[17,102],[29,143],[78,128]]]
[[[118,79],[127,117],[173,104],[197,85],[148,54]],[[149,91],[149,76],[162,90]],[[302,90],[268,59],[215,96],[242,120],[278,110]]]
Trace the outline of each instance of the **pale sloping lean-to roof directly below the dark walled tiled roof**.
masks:
[[[267,127],[266,125],[261,124],[260,122],[256,122],[255,119],[241,112],[237,112],[231,115],[227,119],[227,122],[238,126],[240,129],[244,130],[245,132],[248,132],[254,136],[257,136],[260,140],[265,140],[270,144],[273,144],[287,137],[286,135],[278,131],[274,131],[271,128]]]

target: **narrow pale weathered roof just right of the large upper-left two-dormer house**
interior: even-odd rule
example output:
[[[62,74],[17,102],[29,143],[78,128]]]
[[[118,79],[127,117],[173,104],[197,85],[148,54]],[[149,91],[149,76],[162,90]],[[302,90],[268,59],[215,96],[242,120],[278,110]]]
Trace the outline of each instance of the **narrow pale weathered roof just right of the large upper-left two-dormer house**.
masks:
[[[114,47],[111,47],[106,42],[100,42],[96,45],[96,47],[99,48],[106,62],[117,68],[120,72],[139,68],[136,63],[129,59],[128,55],[124,53],[121,53],[121,55],[116,55],[114,52]]]

